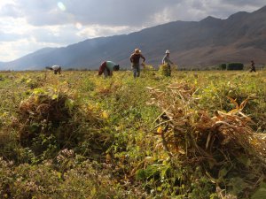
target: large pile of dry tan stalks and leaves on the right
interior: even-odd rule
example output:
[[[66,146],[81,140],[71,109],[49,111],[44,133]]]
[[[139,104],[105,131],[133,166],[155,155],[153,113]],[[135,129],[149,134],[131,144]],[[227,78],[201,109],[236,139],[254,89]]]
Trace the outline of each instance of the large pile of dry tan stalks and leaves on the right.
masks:
[[[149,89],[152,103],[163,111],[156,134],[164,149],[173,165],[192,166],[183,183],[190,187],[200,170],[220,198],[250,197],[265,180],[266,142],[252,131],[251,119],[242,112],[248,100],[239,105],[229,97],[236,109],[215,111],[212,117],[198,108],[195,88],[186,83],[172,84],[164,92]]]

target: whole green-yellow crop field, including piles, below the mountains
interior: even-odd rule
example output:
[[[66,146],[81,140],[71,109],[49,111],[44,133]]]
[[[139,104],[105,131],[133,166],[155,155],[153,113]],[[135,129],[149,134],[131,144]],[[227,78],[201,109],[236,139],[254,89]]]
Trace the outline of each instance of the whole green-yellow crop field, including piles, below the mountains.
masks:
[[[265,198],[266,71],[97,74],[0,73],[0,198]]]

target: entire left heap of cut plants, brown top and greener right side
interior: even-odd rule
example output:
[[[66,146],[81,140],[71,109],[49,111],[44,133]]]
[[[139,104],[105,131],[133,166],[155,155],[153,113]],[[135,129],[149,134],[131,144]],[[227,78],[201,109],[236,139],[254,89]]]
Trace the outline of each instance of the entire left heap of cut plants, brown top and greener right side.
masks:
[[[19,129],[22,146],[33,149],[35,154],[52,148],[51,156],[55,156],[59,149],[81,149],[78,145],[82,144],[90,153],[93,149],[103,149],[106,137],[110,137],[101,132],[104,126],[101,115],[89,105],[76,103],[64,92],[37,88],[20,103],[12,125]]]

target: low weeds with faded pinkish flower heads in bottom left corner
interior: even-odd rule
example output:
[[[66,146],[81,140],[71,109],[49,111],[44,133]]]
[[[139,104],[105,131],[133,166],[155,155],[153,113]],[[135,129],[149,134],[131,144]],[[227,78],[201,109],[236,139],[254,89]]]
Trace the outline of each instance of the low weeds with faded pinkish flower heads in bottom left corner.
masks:
[[[57,161],[63,171],[51,160],[16,166],[0,157],[0,198],[128,198],[117,181],[99,170],[98,163],[79,162],[67,149],[59,152]]]

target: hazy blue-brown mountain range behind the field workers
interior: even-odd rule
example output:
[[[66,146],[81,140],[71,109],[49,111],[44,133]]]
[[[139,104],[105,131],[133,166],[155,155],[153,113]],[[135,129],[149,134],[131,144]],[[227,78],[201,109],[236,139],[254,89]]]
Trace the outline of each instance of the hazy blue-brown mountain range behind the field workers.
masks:
[[[240,11],[228,19],[207,17],[200,21],[174,21],[139,32],[88,39],[62,48],[45,48],[6,63],[14,70],[63,68],[97,69],[112,60],[129,68],[129,56],[142,50],[146,63],[160,65],[165,50],[181,67],[203,67],[228,62],[266,63],[266,6]]]

